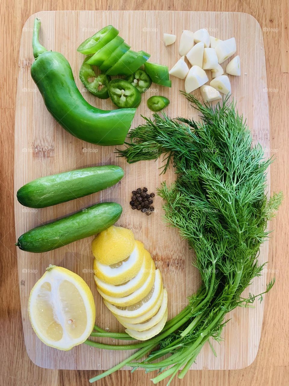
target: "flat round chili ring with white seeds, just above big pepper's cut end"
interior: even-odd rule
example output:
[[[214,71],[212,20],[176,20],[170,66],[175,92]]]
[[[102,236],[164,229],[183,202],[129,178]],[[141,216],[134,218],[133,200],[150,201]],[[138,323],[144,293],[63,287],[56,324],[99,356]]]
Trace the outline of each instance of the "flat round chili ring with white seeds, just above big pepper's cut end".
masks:
[[[120,108],[138,107],[141,94],[124,79],[113,79],[108,84],[108,93],[113,103]]]

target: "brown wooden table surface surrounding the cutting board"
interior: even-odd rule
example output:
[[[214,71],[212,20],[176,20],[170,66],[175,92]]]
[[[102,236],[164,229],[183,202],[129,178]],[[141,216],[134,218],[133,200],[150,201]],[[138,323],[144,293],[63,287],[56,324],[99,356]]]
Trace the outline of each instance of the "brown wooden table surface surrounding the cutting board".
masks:
[[[5,4],[6,3],[6,4]],[[153,4],[154,3],[154,4]],[[14,154],[14,115],[16,82],[18,73],[18,50],[21,30],[25,20],[40,10],[207,10],[246,12],[254,16],[264,31],[264,44],[267,64],[267,86],[271,123],[271,153],[276,162],[271,167],[271,191],[283,190],[285,201],[277,219],[271,223],[275,232],[269,246],[267,277],[276,277],[276,284],[265,296],[265,315],[259,353],[253,364],[237,371],[190,371],[180,381],[172,385],[262,385],[285,386],[289,384],[289,293],[288,283],[288,191],[289,167],[289,4],[285,0],[269,3],[256,1],[223,0],[217,2],[198,1],[194,6],[188,1],[147,0],[99,1],[82,3],[73,0],[5,1],[0,7],[0,103],[1,103],[1,168],[0,191],[2,210],[0,227],[0,385],[84,385],[96,371],[53,371],[42,369],[30,362],[24,347],[22,320],[20,313],[19,289],[17,280],[17,261],[13,243],[15,242],[13,214],[13,154]],[[191,4],[191,5],[189,5]],[[97,8],[96,8],[97,7]],[[250,39],[244,31],[244,39]],[[149,376],[142,371],[130,374],[119,371],[98,384],[107,385],[149,385]]]

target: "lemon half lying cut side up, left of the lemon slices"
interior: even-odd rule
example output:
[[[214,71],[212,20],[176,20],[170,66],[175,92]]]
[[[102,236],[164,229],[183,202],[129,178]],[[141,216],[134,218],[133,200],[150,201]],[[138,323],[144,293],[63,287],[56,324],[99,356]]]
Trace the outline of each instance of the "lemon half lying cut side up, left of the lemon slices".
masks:
[[[43,343],[70,350],[91,334],[96,310],[91,290],[80,276],[49,266],[30,292],[28,312]]]

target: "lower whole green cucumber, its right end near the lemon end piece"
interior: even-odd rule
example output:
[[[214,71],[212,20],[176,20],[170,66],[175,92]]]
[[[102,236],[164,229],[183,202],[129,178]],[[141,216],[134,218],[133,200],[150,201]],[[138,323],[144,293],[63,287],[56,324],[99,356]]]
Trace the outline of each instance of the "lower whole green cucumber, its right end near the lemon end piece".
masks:
[[[60,218],[21,235],[17,245],[22,251],[48,252],[71,242],[96,235],[113,225],[123,208],[115,202],[104,202]]]

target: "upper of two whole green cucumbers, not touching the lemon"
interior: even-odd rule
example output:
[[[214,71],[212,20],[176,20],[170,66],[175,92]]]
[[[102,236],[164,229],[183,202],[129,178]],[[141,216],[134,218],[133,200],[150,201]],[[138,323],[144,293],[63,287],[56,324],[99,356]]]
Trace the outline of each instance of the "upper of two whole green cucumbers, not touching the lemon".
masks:
[[[119,166],[104,165],[41,177],[23,185],[17,200],[29,208],[45,208],[84,197],[115,185],[123,178]]]

